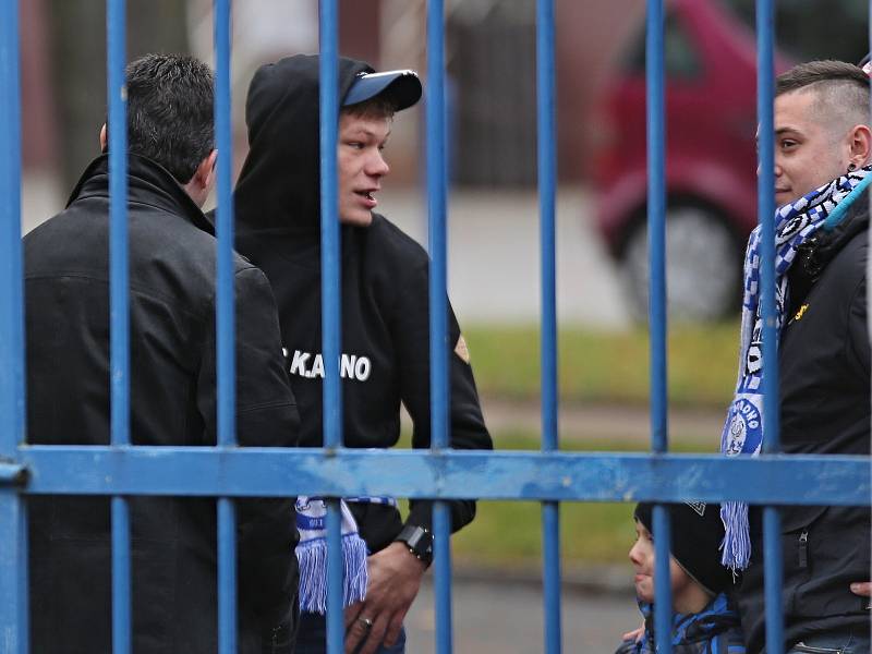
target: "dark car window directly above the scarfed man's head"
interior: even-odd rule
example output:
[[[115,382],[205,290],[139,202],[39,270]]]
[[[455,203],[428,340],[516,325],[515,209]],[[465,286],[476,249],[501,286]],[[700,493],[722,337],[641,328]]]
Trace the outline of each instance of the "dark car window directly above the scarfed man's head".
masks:
[[[723,0],[754,29],[754,0]],[[777,47],[795,61],[840,59],[858,62],[869,51],[865,0],[788,0],[777,2]]]

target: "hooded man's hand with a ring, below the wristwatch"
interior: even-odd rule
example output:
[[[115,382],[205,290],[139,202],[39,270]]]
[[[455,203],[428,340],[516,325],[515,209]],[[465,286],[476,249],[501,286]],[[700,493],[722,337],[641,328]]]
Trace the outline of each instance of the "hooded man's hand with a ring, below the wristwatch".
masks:
[[[367,559],[366,598],[346,609],[346,653],[373,654],[397,642],[402,621],[421,588],[426,566],[402,543],[391,543]],[[360,650],[356,647],[364,643]]]

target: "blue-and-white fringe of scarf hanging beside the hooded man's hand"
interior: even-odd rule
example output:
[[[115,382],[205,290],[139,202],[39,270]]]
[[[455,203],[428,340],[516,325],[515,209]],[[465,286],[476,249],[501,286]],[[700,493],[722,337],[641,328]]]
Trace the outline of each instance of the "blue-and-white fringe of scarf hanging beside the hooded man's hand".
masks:
[[[366,543],[356,533],[342,536],[342,606],[366,596],[370,576],[366,571]],[[327,541],[316,538],[296,546],[300,562],[300,610],[327,613]]]

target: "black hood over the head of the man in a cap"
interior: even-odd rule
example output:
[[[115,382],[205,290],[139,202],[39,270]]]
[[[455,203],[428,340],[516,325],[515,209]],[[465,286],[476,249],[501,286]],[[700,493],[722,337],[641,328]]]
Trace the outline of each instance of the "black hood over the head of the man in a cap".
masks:
[[[319,65],[317,55],[296,55],[262,65],[252,78],[245,99],[249,155],[234,194],[242,230],[319,233]],[[355,75],[373,68],[340,58],[338,72],[341,104]]]

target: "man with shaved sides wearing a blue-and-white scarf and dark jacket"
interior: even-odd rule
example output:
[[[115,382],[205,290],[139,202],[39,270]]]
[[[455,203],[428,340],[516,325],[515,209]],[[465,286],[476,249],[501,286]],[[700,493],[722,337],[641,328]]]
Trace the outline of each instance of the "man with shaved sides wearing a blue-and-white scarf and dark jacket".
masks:
[[[780,75],[775,97],[776,302],[780,443],[786,453],[870,453],[867,241],[872,182],[869,77],[838,61]],[[760,228],[744,266],[741,359],[722,435],[755,455],[765,428],[760,365]],[[748,652],[765,646],[762,510],[725,502],[724,564],[741,570]],[[749,524],[750,523],[750,524]],[[785,643],[799,652],[870,651],[869,507],[783,507]],[[855,594],[858,593],[858,594]]]

